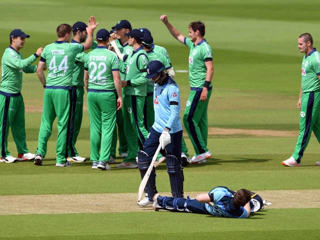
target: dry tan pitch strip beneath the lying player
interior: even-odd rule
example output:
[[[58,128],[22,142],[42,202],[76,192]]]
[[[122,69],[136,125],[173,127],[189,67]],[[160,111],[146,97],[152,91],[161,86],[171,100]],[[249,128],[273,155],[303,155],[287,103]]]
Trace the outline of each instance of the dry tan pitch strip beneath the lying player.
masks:
[[[186,192],[195,197],[199,192]],[[270,202],[271,208],[315,208],[320,207],[320,189],[314,190],[266,190],[257,193]],[[163,193],[162,193],[163,194]],[[168,192],[164,192],[170,195]],[[138,207],[137,193],[103,194],[56,194],[56,195],[9,195],[0,196],[0,214],[51,214],[89,212],[151,211],[151,207]],[[122,199],[118,201],[117,199]],[[305,201],[305,199],[308,199]],[[68,202],[68,204],[57,204]],[[301,205],[303,202],[303,205]]]

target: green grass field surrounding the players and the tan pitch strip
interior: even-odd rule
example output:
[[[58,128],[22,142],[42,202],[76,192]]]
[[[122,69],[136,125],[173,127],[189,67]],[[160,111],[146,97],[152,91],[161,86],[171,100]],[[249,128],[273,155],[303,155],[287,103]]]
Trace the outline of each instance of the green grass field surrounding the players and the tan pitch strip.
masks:
[[[168,50],[174,69],[187,70],[188,49],[170,36],[159,16],[167,14],[184,35],[190,21],[202,20],[215,68],[209,126],[297,131],[296,101],[302,58],[297,37],[310,32],[314,47],[320,47],[319,7],[318,0],[305,3],[298,0],[162,0],[158,3],[1,0],[0,51],[9,45],[8,35],[13,28],[21,28],[31,35],[21,50],[27,57],[37,47],[56,40],[58,24],[86,21],[89,15],[95,15],[98,28],[110,29],[120,19],[128,19],[134,28],[147,27],[155,43]],[[176,73],[182,108],[189,88],[187,77],[187,73]],[[43,94],[36,74],[24,74],[22,94],[27,144],[33,152]],[[86,109],[86,102],[84,105]],[[0,164],[2,204],[10,204],[3,201],[6,195],[137,192],[140,182],[137,169],[93,171],[88,161],[74,163],[71,168],[54,167],[55,140],[54,124],[42,167],[32,162]],[[208,191],[216,185],[256,191],[320,189],[320,167],[314,166],[314,161],[320,160],[320,148],[315,137],[311,137],[301,167],[285,168],[280,164],[292,153],[295,141],[296,136],[209,135],[208,148],[213,156],[206,164],[184,168],[184,191]],[[187,137],[186,143],[193,154]],[[8,144],[12,155],[16,155],[11,136]],[[88,146],[89,123],[85,110],[77,148],[87,158]],[[170,190],[164,165],[157,168],[157,188],[160,192]],[[310,198],[305,196],[306,201]],[[114,201],[122,206],[135,204],[126,199]],[[303,202],[296,208],[266,209],[243,220],[150,212],[138,207],[136,212],[117,213],[3,215],[0,212],[0,239],[318,239],[319,221],[320,208],[304,208]]]

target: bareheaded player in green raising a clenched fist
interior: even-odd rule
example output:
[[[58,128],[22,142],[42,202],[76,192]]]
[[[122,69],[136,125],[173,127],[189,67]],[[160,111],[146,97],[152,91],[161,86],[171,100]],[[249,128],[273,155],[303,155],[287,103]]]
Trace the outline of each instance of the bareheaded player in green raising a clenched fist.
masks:
[[[206,145],[208,136],[207,108],[212,92],[212,51],[203,38],[205,28],[202,22],[190,22],[188,26],[190,38],[186,38],[168,22],[166,15],[161,15],[160,19],[175,39],[190,48],[189,83],[191,89],[186,101],[183,123],[195,151],[191,162],[201,162],[211,156]],[[187,148],[182,141],[182,152],[186,153],[186,151]]]

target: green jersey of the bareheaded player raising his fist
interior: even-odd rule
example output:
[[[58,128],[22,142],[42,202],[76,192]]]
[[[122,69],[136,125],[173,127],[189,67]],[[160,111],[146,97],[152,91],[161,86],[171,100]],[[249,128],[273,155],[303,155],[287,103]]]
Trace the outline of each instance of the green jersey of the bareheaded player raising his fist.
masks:
[[[191,87],[203,87],[206,75],[205,61],[212,60],[212,50],[203,39],[195,46],[190,38],[184,37],[184,44],[190,48],[189,52],[189,83]],[[211,86],[211,83],[210,83]]]

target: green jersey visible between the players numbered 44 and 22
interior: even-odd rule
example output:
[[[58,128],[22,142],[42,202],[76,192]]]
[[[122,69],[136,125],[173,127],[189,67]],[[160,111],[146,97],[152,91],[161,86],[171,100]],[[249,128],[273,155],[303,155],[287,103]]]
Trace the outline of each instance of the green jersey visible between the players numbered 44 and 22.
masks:
[[[71,43],[80,43],[76,40],[71,40]],[[92,42],[91,49],[94,49],[97,46],[97,41]],[[73,67],[73,75],[72,75],[72,85],[81,87],[84,86],[83,76],[84,76],[84,61],[85,61],[86,53],[84,51],[76,54],[74,67]]]

